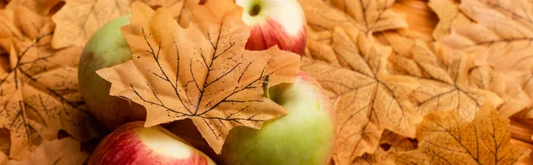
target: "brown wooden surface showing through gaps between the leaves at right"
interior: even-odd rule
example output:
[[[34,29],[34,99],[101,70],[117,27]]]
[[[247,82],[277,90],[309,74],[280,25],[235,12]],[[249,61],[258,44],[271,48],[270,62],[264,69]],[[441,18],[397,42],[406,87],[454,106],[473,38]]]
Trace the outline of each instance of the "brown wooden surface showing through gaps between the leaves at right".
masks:
[[[439,18],[427,6],[427,0],[396,0],[393,10],[405,15],[410,30],[426,35],[428,38],[433,38],[432,33],[439,22]],[[531,139],[533,135],[533,120],[513,117],[511,119],[511,134],[514,144],[526,146],[533,150],[533,140]],[[533,152],[521,164],[533,164]]]

